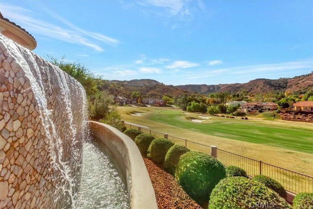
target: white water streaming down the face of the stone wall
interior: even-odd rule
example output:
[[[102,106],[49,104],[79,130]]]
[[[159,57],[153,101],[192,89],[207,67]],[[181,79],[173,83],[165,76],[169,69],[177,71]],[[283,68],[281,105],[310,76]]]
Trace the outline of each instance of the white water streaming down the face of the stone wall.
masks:
[[[55,203],[58,207],[76,208],[74,199],[80,178],[82,138],[86,119],[85,90],[64,71],[24,47],[16,45],[3,36],[0,36],[0,41],[5,43],[10,55],[30,80],[31,90],[36,97],[41,122],[45,128],[45,137],[48,140],[47,149],[51,158],[50,172],[52,173],[50,181],[56,182]],[[73,102],[75,105],[72,105]],[[79,112],[80,116],[73,118],[73,111]],[[60,125],[60,117],[63,119],[62,125]],[[61,138],[62,128],[66,129],[63,130],[66,134]],[[64,146],[64,141],[70,141],[70,145]]]

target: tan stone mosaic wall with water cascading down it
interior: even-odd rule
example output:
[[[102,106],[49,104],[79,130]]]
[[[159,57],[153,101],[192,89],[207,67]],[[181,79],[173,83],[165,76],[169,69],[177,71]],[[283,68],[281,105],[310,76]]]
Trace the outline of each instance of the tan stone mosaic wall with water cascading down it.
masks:
[[[69,207],[80,178],[84,101],[76,80],[0,35],[1,209]]]

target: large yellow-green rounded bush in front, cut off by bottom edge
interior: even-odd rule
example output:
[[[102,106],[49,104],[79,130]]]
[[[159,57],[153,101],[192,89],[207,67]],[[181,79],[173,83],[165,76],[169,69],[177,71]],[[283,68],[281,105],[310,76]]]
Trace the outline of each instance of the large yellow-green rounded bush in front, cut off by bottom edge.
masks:
[[[221,180],[213,189],[209,209],[291,209],[287,201],[264,184],[237,176]]]

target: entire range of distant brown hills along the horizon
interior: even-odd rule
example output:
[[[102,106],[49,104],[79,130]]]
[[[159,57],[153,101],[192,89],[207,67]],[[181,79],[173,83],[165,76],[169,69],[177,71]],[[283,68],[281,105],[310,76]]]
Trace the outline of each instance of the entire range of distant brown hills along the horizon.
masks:
[[[293,78],[265,79],[259,78],[247,83],[218,84],[218,85],[164,85],[152,79],[136,79],[130,81],[108,81],[107,89],[114,95],[123,95],[130,98],[132,92],[138,91],[144,97],[162,97],[169,95],[177,97],[182,93],[210,94],[217,92],[240,93],[246,91],[251,94],[268,93],[272,91],[291,93],[306,93],[313,90],[313,73],[295,76]]]

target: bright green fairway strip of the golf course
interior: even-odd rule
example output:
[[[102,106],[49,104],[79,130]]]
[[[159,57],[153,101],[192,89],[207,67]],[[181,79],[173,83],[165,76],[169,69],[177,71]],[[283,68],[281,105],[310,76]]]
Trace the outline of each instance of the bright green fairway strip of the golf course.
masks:
[[[145,112],[145,111],[141,111]],[[226,139],[236,139],[246,142],[265,144],[304,153],[313,153],[313,129],[281,125],[268,121],[242,120],[224,117],[212,117],[202,123],[192,122],[180,110],[160,109],[150,111],[145,120],[163,123],[184,130],[217,136]],[[200,117],[198,119],[201,119]]]

